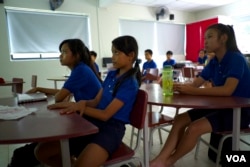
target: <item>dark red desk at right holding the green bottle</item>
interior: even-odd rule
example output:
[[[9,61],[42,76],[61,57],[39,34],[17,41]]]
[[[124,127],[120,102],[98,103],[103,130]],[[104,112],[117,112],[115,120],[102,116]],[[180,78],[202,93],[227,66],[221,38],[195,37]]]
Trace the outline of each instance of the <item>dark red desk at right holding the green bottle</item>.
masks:
[[[215,96],[192,96],[174,94],[173,96],[163,96],[162,88],[159,84],[143,84],[141,89],[148,93],[148,105],[197,108],[197,109],[220,109],[233,108],[233,150],[239,150],[240,137],[240,117],[241,108],[250,107],[250,98],[241,97],[215,97]],[[145,136],[148,136],[147,118],[144,127]],[[144,153],[148,153],[148,138],[145,137]],[[144,154],[145,165],[148,165],[149,157]]]

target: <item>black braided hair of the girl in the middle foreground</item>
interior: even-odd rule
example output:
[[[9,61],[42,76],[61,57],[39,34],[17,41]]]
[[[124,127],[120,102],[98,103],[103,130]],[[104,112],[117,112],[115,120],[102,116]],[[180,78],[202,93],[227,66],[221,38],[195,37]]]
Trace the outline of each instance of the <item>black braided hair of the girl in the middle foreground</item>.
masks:
[[[135,76],[138,82],[138,85],[141,85],[141,71],[139,67],[139,60],[138,60],[138,44],[134,37],[132,36],[120,36],[115,38],[112,41],[113,47],[117,50],[123,52],[125,55],[129,55],[131,52],[134,52],[134,67],[127,71],[122,78],[120,78],[113,89],[113,96],[115,96],[118,88],[123,83],[124,80],[131,76]],[[118,69],[119,70],[119,69]]]

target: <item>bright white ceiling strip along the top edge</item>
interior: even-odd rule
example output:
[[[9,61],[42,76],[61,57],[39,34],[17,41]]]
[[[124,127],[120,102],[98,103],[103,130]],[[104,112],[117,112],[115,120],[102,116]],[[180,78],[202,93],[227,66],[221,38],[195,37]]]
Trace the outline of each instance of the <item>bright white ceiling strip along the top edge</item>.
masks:
[[[160,7],[164,6],[170,10],[179,10],[187,12],[195,12],[205,9],[210,9],[222,5],[227,5],[238,0],[99,0],[101,3],[107,1],[126,3],[133,5]]]

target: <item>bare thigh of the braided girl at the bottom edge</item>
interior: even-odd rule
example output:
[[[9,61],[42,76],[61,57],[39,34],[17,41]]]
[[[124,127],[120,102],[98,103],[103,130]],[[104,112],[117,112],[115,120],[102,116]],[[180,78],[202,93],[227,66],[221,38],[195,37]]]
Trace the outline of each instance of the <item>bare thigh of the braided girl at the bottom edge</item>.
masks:
[[[108,159],[108,156],[109,154],[104,148],[92,143],[81,152],[75,167],[100,167]]]

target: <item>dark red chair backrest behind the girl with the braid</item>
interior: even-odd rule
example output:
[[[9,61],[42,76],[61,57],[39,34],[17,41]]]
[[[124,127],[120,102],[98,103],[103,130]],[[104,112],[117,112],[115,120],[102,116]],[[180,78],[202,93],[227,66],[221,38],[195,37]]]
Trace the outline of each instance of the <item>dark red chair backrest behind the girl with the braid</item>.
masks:
[[[147,113],[148,94],[139,89],[132,111],[130,113],[130,124],[137,128],[142,129]]]

